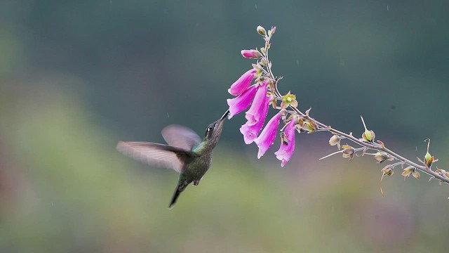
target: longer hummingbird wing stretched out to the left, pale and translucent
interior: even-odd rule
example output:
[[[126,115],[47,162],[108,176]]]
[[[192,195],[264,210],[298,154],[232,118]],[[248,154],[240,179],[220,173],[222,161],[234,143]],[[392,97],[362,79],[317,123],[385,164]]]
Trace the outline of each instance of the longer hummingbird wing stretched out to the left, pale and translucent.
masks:
[[[117,150],[141,162],[174,169],[177,172],[184,170],[196,156],[189,150],[144,141],[120,141]]]

